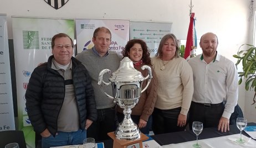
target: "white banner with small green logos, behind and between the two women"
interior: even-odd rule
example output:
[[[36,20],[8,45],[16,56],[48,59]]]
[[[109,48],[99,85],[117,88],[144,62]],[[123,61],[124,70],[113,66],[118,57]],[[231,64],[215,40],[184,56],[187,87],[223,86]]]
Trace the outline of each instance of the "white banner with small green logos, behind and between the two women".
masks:
[[[155,56],[162,37],[171,33],[172,23],[130,22],[130,40],[144,40],[149,47],[150,57]]]

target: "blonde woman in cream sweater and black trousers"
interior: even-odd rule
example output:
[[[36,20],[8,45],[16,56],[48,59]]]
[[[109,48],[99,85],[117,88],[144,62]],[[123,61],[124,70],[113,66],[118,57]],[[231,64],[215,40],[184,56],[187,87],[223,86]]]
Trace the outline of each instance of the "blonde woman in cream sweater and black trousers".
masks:
[[[153,111],[155,134],[183,131],[193,96],[193,73],[188,62],[179,57],[176,36],[167,34],[152,58],[158,78],[157,101]]]

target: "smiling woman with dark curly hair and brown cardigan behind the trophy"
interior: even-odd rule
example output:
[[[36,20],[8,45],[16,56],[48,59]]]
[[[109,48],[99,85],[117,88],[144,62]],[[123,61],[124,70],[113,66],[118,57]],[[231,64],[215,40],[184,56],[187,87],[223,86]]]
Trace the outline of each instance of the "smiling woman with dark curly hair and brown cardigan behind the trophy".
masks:
[[[134,68],[147,76],[147,71],[141,70],[144,65],[150,66],[152,70],[152,80],[146,91],[142,92],[139,102],[132,108],[131,119],[136,123],[140,131],[144,134],[149,134],[152,125],[152,112],[156,102],[157,79],[155,71],[152,68],[150,52],[147,50],[147,45],[143,40],[133,39],[127,42],[125,49],[122,51],[124,57],[129,57],[134,64]],[[142,89],[145,88],[147,82],[142,84]],[[122,108],[117,106],[117,117],[119,123],[124,119]]]

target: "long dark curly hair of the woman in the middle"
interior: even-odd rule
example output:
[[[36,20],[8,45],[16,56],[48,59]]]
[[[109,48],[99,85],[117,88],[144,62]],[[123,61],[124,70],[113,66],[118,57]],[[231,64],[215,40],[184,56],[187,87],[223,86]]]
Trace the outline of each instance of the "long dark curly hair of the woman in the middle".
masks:
[[[144,64],[147,64],[147,65],[150,65],[152,66],[151,64],[151,59],[150,59],[150,52],[147,47],[147,44],[145,43],[145,41],[141,40],[141,39],[132,39],[130,41],[127,42],[127,44],[125,45],[125,49],[122,50],[122,55],[124,57],[128,57],[128,53],[130,52],[130,49],[132,46],[134,46],[134,44],[140,44],[141,45],[141,48],[142,48],[142,61],[144,62]]]

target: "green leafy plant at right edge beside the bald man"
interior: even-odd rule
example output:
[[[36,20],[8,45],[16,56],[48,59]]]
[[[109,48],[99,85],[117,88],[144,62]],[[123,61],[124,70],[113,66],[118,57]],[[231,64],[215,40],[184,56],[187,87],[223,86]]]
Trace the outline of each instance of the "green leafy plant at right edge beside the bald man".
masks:
[[[244,47],[248,47],[244,49]],[[254,89],[254,97],[253,104],[256,103],[256,47],[249,44],[243,44],[239,47],[237,55],[233,55],[233,57],[237,58],[236,66],[242,61],[243,72],[238,72],[238,77],[240,77],[238,84],[241,84],[243,78],[245,78],[245,89],[248,91],[249,89]],[[255,107],[256,108],[256,107]]]

